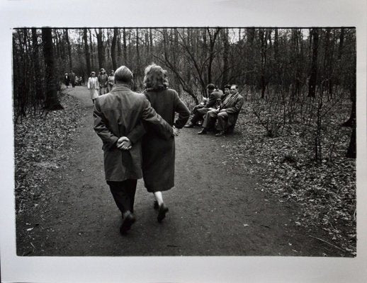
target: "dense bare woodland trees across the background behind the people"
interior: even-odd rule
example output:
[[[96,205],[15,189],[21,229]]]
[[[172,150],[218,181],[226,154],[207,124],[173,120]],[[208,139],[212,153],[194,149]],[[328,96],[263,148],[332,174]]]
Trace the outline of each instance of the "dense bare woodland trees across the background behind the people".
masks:
[[[355,128],[354,28],[18,29],[13,34],[15,121],[60,108],[56,91],[69,70],[86,80],[93,70],[125,64],[135,75],[133,88],[142,90],[144,68],[152,62],[169,70],[171,87],[188,104],[206,96],[208,83],[220,88],[237,83],[245,98],[256,100],[256,117],[270,136],[293,122],[295,113],[306,124],[317,120],[320,131],[323,112],[346,100],[352,103],[346,126]],[[320,159],[319,137],[315,143]],[[355,156],[354,144],[355,132],[349,156]]]

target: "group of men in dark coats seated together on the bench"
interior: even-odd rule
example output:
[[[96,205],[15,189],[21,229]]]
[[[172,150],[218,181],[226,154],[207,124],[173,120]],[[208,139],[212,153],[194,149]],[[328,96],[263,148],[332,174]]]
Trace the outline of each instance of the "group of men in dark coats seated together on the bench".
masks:
[[[207,91],[209,98],[193,108],[191,112],[193,117],[185,127],[195,127],[202,122],[203,129],[198,134],[207,134],[208,131],[214,130],[217,132],[215,137],[221,137],[226,132],[233,131],[244,98],[239,94],[238,86],[235,84],[226,85],[223,93],[213,83],[209,83]]]

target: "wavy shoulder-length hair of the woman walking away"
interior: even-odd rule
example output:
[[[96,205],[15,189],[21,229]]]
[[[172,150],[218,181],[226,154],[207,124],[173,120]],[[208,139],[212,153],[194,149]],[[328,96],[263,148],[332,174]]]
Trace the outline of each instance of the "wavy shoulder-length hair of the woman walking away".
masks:
[[[146,89],[160,89],[169,86],[166,70],[152,63],[145,68],[144,86]]]

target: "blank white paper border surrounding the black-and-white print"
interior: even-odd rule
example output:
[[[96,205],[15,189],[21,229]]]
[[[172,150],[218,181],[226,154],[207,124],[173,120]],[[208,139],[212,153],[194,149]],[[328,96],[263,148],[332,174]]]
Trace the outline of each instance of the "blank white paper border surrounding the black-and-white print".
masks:
[[[366,1],[0,1],[2,282],[364,282]],[[13,196],[11,28],[339,27],[357,29],[357,258],[17,257]]]

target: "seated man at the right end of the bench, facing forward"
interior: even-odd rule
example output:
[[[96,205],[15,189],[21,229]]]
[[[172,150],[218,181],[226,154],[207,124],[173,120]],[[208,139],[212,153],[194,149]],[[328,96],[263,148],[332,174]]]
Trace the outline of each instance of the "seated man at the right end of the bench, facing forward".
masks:
[[[230,94],[225,97],[220,106],[215,110],[208,111],[203,122],[203,129],[198,134],[206,134],[215,120],[218,120],[219,132],[215,134],[215,137],[222,136],[228,128],[235,126],[243,104],[244,98],[238,93],[238,86],[232,85]]]

